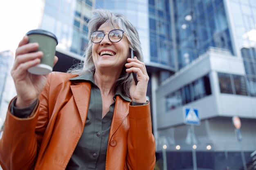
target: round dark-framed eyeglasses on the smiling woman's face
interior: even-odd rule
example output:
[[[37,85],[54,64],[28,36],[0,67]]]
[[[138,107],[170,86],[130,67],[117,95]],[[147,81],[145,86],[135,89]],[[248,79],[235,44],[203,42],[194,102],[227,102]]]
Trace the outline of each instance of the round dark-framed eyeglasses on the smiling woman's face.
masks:
[[[109,33],[104,33],[103,31],[92,31],[91,40],[93,43],[100,43],[106,34],[108,34],[108,39],[111,42],[119,42],[123,38],[124,30],[113,29],[112,31],[109,31]]]

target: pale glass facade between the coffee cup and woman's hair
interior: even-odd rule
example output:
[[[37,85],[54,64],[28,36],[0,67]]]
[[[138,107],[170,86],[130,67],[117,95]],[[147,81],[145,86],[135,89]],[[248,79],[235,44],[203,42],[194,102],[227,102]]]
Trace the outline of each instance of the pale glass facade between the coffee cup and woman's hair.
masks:
[[[41,29],[58,38],[58,46],[82,55],[88,45],[87,23],[93,0],[46,0]]]

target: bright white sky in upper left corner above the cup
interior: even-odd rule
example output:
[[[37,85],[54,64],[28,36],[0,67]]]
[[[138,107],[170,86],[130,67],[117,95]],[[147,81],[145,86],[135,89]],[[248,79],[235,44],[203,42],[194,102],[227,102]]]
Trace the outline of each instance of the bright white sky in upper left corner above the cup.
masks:
[[[38,29],[42,0],[1,0],[0,52],[15,50],[23,36]]]

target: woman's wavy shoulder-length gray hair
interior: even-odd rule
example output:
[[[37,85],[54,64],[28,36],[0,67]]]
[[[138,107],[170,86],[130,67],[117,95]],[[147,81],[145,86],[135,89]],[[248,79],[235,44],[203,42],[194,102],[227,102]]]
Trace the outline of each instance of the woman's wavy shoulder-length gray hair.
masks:
[[[141,51],[141,43],[139,40],[139,35],[137,29],[130,23],[130,21],[121,13],[111,13],[106,9],[95,9],[92,11],[92,18],[88,22],[88,47],[85,49],[85,59],[79,65],[74,68],[70,68],[67,73],[73,73],[82,75],[86,72],[94,72],[95,65],[92,60],[92,44],[93,42],[90,41],[90,33],[92,31],[96,31],[99,27],[104,24],[108,23],[113,28],[118,26],[119,29],[124,30],[127,35],[129,48],[132,49],[135,53],[135,56],[138,60],[143,62],[143,54]],[[123,90],[124,95],[130,97],[129,89],[132,84],[132,74],[126,73],[126,67],[123,67],[121,75],[115,82],[115,89],[120,86]]]

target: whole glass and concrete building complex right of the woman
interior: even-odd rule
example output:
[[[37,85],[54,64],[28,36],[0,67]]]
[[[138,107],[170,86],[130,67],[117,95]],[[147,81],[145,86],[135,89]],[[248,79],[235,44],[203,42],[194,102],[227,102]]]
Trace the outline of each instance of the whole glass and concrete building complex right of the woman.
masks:
[[[139,31],[150,75],[156,168],[251,168],[256,2],[96,0],[95,7],[123,13]]]

